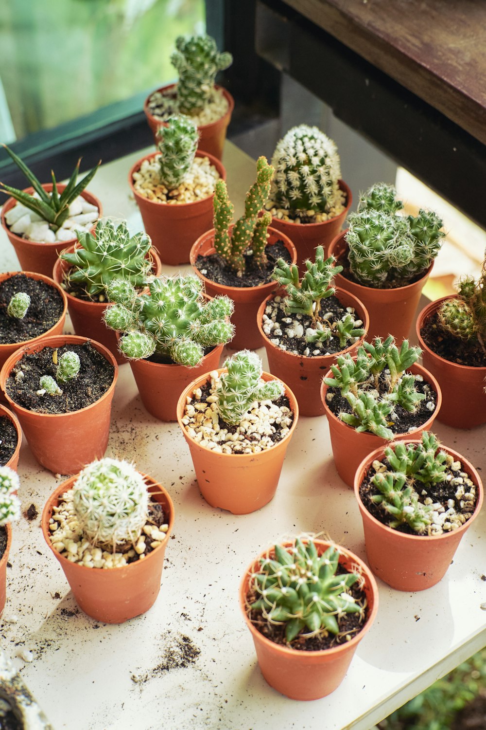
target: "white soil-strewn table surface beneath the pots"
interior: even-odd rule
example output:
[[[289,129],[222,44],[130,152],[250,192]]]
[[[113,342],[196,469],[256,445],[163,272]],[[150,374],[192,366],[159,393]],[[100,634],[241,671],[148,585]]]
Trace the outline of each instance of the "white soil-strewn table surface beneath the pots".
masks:
[[[102,166],[90,185],[106,215],[126,218],[133,231],[141,218],[126,180],[145,153]],[[224,162],[230,196],[243,201],[254,161],[227,143]],[[18,268],[1,231],[0,270]],[[263,348],[258,352],[266,367]],[[434,430],[485,472],[485,427]],[[231,515],[200,496],[179,426],[146,412],[130,367],[122,366],[107,456],[133,459],[168,489],[176,510],[157,602],[122,626],[77,609],[39,526],[58,480],[36,464],[26,443],[20,451],[20,499],[24,510],[35,504],[39,518],[14,526],[0,641],[55,730],[368,730],[486,644],[483,510],[439,585],[401,593],[378,580],[377,620],[337,691],[313,702],[287,699],[259,672],[238,585],[257,553],[301,532],[329,535],[366,560],[358,507],[334,469],[325,416],[299,420],[273,501],[254,514]],[[17,623],[9,623],[12,617]],[[182,636],[200,650],[187,666]],[[31,663],[17,656],[23,649],[33,653]],[[167,669],[169,654],[176,666]]]

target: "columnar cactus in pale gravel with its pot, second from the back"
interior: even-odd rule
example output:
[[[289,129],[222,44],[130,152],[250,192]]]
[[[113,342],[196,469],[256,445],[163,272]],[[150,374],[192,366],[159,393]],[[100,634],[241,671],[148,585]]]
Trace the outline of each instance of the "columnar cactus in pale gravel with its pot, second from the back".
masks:
[[[133,165],[128,182],[162,264],[187,264],[195,239],[211,226],[214,188],[226,172],[197,150],[197,128],[188,117],[171,117],[160,128],[157,150]]]

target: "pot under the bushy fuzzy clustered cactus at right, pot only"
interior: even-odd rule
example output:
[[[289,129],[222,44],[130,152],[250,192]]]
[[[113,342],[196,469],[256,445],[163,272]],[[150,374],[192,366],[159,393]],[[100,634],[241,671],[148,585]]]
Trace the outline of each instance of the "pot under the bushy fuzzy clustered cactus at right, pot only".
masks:
[[[329,255],[334,255],[337,261],[345,257],[348,245],[345,242],[345,233],[340,234],[329,246]],[[431,264],[425,274],[418,281],[396,289],[375,289],[363,286],[346,279],[342,274],[336,274],[334,284],[350,291],[360,299],[368,310],[369,331],[368,340],[374,337],[388,337],[393,334],[396,344],[400,345],[409,336],[412,323],[415,321],[422,289],[431,273]]]

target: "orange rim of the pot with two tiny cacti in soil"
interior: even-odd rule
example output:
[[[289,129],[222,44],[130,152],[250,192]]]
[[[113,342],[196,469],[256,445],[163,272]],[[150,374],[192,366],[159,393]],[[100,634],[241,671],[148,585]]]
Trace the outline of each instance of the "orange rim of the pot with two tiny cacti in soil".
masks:
[[[59,340],[63,340],[63,344],[59,344]],[[113,373],[113,380],[111,381],[111,385],[106,391],[106,393],[103,393],[101,398],[98,398],[97,401],[94,403],[91,403],[89,406],[85,406],[84,408],[79,408],[79,410],[76,411],[70,411],[68,413],[39,413],[39,411],[33,411],[28,410],[28,408],[24,408],[18,403],[15,403],[14,400],[9,396],[8,393],[5,391],[5,383],[7,382],[7,377],[9,377],[10,372],[14,368],[14,366],[17,364],[17,362],[23,358],[24,355],[37,352],[38,350],[44,350],[44,347],[63,347],[63,345],[84,345],[85,342],[91,342],[93,347],[95,347],[96,350],[98,350],[101,355],[103,355],[106,360],[114,366],[114,373]],[[90,408],[95,407],[100,401],[103,399],[106,399],[107,397],[111,396],[112,391],[114,390],[114,387],[117,383],[118,378],[118,364],[117,361],[114,358],[114,355],[111,354],[109,349],[105,347],[104,345],[101,345],[101,342],[96,342],[95,339],[92,339],[90,337],[81,337],[77,334],[54,334],[50,337],[42,338],[39,342],[34,343],[34,345],[26,345],[26,347],[19,347],[15,352],[10,355],[7,360],[4,362],[3,366],[0,369],[0,388],[4,393],[5,398],[7,398],[7,401],[9,401],[9,404],[12,404],[12,406],[15,407],[17,411],[19,411],[22,414],[28,414],[34,416],[39,416],[42,418],[66,418],[66,416],[74,415],[74,413],[82,413]]]

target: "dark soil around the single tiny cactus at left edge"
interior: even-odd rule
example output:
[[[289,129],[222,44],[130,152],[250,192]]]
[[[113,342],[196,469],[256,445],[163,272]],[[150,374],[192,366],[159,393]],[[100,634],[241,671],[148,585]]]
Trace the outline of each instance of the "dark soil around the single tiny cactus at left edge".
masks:
[[[23,319],[9,317],[7,307],[12,296],[23,291],[31,297]],[[14,274],[0,283],[0,345],[26,342],[47,332],[63,313],[63,300],[53,286],[31,279],[26,274]]]

